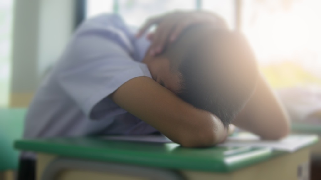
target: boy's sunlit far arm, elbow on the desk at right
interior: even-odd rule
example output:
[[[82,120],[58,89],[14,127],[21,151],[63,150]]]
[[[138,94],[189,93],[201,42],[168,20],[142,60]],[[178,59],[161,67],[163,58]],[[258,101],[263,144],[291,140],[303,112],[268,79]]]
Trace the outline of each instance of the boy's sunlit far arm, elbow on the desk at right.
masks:
[[[264,139],[279,139],[290,132],[289,118],[262,75],[233,124]]]

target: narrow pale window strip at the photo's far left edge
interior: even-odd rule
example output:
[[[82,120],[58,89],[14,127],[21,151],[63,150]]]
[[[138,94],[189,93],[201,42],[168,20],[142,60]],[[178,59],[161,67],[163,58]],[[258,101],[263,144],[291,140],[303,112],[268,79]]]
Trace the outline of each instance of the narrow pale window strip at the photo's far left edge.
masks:
[[[0,1],[0,107],[8,105],[13,0]]]

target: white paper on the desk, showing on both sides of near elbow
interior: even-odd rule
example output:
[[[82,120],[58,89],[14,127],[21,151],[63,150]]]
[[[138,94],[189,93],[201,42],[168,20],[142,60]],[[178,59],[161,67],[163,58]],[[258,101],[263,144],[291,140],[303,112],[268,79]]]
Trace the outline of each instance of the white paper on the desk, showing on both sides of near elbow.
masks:
[[[107,140],[117,141],[138,141],[138,142],[154,142],[154,143],[170,143],[165,136],[145,135],[145,136],[105,136]],[[318,140],[318,136],[314,134],[291,134],[278,141],[263,141],[258,136],[251,133],[239,133],[236,136],[228,137],[227,140],[217,146],[221,147],[262,147],[271,148],[273,150],[282,150],[294,152],[301,147],[307,146]]]

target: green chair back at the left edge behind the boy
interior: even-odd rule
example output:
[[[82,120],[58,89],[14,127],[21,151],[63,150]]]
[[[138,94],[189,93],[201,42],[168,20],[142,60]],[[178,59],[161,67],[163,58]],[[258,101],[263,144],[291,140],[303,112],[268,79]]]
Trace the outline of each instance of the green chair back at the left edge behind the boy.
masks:
[[[13,148],[13,141],[21,139],[24,108],[0,108],[0,171],[16,170],[19,151]]]

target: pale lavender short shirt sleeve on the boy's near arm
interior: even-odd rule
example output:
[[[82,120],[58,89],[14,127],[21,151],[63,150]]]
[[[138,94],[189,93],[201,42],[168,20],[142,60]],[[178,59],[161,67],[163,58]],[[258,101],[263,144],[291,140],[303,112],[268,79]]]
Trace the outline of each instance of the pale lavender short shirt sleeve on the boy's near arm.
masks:
[[[115,36],[103,27],[80,31],[57,65],[58,84],[90,119],[99,119],[90,115],[93,107],[104,99],[108,101],[103,103],[104,112],[115,108],[106,97],[126,81],[151,77],[146,64],[134,61]]]

